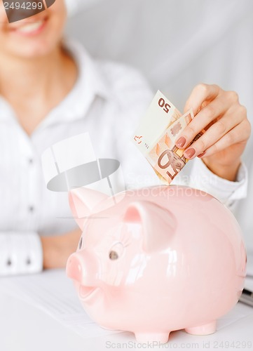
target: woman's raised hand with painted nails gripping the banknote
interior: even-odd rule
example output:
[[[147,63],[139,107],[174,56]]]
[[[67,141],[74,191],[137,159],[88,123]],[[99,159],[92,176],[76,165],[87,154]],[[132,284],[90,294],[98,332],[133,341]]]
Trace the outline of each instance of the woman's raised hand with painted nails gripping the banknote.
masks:
[[[193,88],[184,112],[191,107],[196,117],[179,136],[177,147],[188,146],[184,151],[187,159],[200,157],[217,176],[234,181],[251,131],[237,93],[199,84]],[[204,128],[205,133],[189,145]]]

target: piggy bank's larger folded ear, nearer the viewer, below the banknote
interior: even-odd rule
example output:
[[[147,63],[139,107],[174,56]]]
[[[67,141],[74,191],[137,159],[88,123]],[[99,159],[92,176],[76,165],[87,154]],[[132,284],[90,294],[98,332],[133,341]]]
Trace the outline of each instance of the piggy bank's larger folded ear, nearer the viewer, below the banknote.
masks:
[[[142,225],[143,249],[146,253],[162,251],[170,246],[171,236],[177,227],[177,220],[170,211],[150,201],[130,204],[124,222]]]

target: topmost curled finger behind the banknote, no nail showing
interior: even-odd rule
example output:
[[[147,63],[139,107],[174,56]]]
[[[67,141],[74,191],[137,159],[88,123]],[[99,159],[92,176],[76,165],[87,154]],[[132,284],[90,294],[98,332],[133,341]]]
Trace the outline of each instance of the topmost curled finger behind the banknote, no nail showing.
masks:
[[[219,95],[221,88],[215,84],[198,84],[191,92],[186,105],[184,113],[193,109],[193,114],[197,114],[205,100],[214,100]]]

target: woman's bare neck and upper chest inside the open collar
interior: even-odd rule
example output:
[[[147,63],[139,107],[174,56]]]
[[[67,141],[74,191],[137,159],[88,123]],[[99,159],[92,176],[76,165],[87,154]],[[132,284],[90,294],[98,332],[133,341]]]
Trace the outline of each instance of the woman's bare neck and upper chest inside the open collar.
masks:
[[[0,94],[28,134],[71,91],[76,77],[74,61],[60,46],[36,59],[0,54]]]

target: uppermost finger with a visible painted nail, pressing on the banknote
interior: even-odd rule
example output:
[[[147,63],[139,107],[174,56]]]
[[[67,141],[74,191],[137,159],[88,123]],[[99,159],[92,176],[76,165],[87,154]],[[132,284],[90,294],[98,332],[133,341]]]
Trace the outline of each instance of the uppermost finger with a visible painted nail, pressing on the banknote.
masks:
[[[214,119],[223,115],[230,107],[230,102],[223,97],[218,97],[206,107],[204,107],[191,123],[186,126],[184,131],[179,135],[176,140],[176,145],[179,148],[184,148],[191,143],[200,131],[207,127]]]

